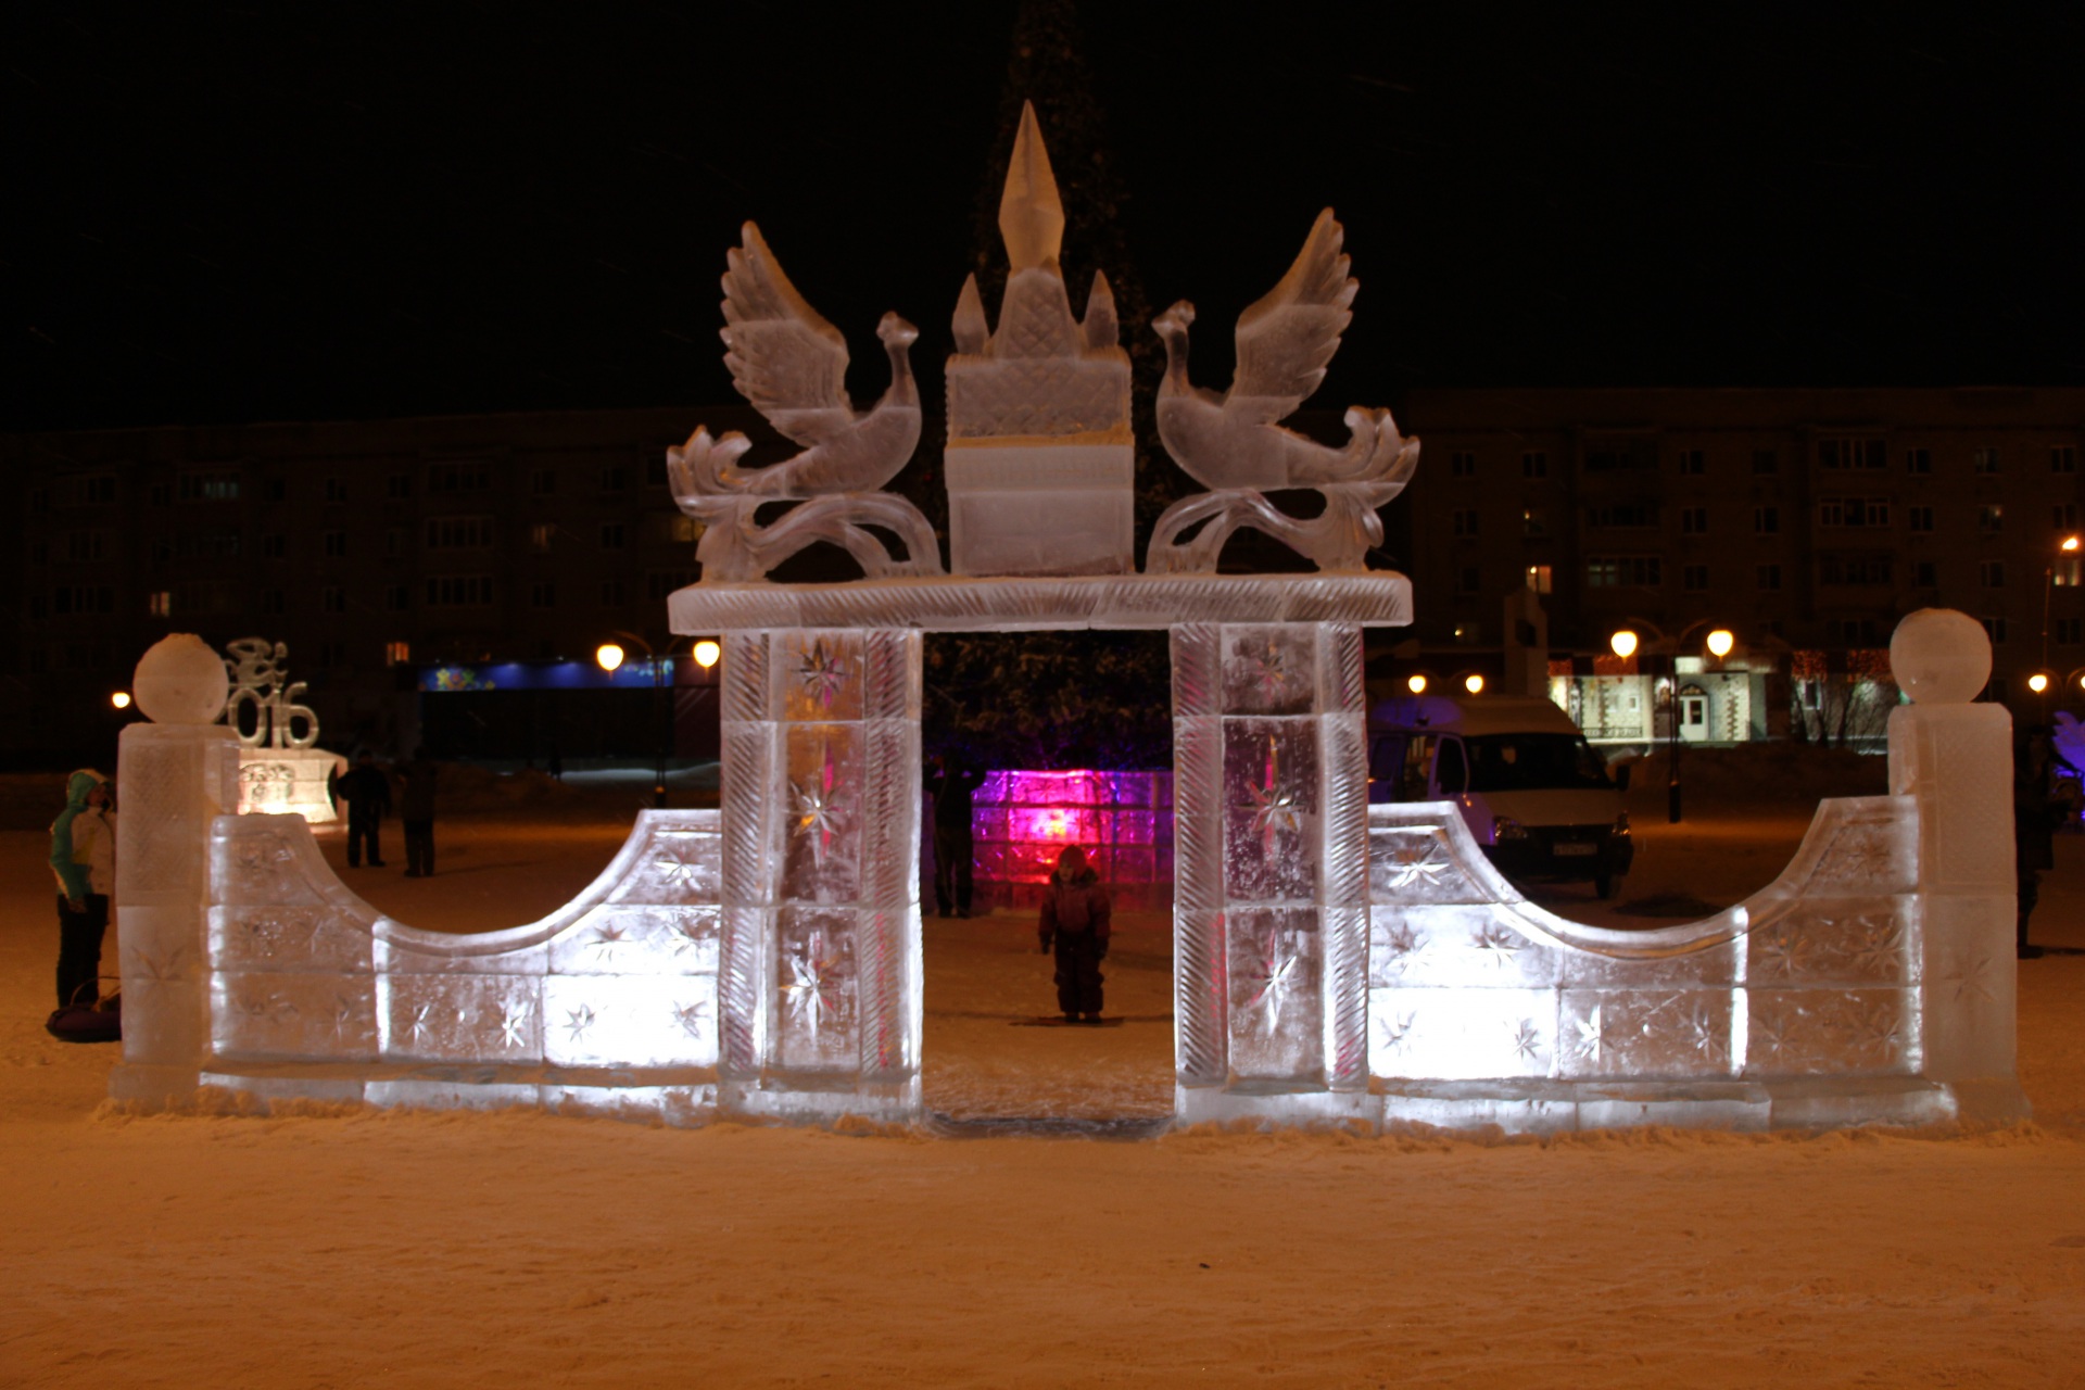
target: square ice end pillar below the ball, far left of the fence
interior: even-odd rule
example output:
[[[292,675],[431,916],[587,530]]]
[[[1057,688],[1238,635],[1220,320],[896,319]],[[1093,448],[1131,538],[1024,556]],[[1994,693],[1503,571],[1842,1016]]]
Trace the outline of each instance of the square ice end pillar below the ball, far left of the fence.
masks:
[[[123,1065],[117,1100],[167,1104],[196,1090],[208,1054],[204,961],[211,821],[240,794],[240,740],[208,723],[133,723],[117,750],[117,940]]]

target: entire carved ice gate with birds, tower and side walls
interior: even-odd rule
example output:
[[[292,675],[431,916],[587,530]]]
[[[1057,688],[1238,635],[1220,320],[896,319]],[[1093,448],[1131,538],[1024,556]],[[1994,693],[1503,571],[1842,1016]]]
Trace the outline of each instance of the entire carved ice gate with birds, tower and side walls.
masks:
[[[673,454],[709,521],[680,634],[723,634],[719,811],[644,813],[563,911],[486,936],[392,921],[296,817],[234,817],[221,663],[169,638],[123,734],[125,1052],[111,1090],[540,1102],[819,1121],[922,1119],[919,636],[1166,627],[1174,669],[1176,1119],[1259,1123],[1845,1125],[2027,1113],[2014,1082],[2010,725],[1960,613],[1891,644],[1891,796],[1831,800],[1787,871],[1708,921],[1608,932],[1526,902],[1451,804],[1370,806],[1362,629],[1412,621],[1362,567],[1418,442],[1278,427],[1353,300],[1320,217],[1238,325],[1228,396],[1186,383],[1191,311],[1159,319],[1166,446],[1213,492],[1134,573],[1130,373],[1103,277],[1057,265],[1063,210],[1034,115],[1001,204],[997,323],[963,286],[949,358],[949,569],[878,492],[917,442],[913,329],[886,317],[890,392],[855,413],[838,333],[759,233],[730,256],[734,379],[805,446],[759,471],[738,436]],[[1309,523],[1261,490],[1318,488]],[[796,500],[774,523],[765,502]],[[1188,536],[1191,527],[1201,531]],[[1218,575],[1253,525],[1320,573]],[[1182,540],[1186,536],[1186,540]],[[886,540],[888,538],[888,540]],[[890,540],[903,550],[890,550]],[[865,577],[765,581],[811,542]],[[215,679],[215,686],[213,686]]]

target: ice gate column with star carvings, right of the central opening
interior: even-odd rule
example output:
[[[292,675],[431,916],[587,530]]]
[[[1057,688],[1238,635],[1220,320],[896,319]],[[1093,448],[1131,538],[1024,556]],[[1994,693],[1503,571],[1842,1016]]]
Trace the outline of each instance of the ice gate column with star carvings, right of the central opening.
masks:
[[[1186,623],[1172,663],[1178,1115],[1359,1113],[1362,629]]]

